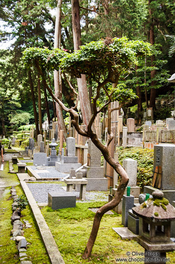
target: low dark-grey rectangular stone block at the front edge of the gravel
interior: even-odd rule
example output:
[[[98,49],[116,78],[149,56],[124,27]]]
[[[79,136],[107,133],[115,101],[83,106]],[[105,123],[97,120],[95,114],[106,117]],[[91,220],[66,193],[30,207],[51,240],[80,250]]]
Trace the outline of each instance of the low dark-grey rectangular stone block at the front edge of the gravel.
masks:
[[[52,207],[53,210],[75,207],[76,195],[71,192],[49,192],[48,206]]]

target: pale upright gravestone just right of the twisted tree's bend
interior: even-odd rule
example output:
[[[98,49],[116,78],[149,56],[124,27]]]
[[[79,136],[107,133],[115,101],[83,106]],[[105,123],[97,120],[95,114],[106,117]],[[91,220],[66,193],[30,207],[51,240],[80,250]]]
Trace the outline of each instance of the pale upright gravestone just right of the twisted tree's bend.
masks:
[[[128,186],[136,186],[137,184],[137,160],[132,158],[123,159],[123,168],[129,176]]]

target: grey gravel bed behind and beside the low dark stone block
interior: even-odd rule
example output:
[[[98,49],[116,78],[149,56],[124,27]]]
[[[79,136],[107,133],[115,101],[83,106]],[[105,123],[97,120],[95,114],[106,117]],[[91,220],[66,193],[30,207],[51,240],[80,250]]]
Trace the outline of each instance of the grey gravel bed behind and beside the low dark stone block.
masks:
[[[61,186],[63,184],[60,183],[27,183],[33,197],[38,203],[48,203],[48,192],[51,191],[59,191],[66,192]],[[79,197],[79,192],[73,191],[76,197]],[[87,191],[86,199],[83,202],[97,202],[97,201],[106,201],[108,202],[108,193],[104,193],[101,191]],[[77,200],[77,202],[82,202]]]

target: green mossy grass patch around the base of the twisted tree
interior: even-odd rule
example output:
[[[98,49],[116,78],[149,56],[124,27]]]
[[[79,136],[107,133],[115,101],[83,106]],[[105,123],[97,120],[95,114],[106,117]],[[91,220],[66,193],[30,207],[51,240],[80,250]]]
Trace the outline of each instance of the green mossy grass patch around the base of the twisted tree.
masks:
[[[75,208],[54,211],[42,208],[45,220],[58,245],[58,249],[66,264],[116,264],[116,258],[125,258],[126,252],[144,252],[135,241],[123,241],[112,227],[121,227],[121,216],[105,215],[102,218],[98,236],[89,260],[81,258],[93,225],[95,213],[88,210],[104,203],[81,203]],[[121,263],[121,262],[120,262]],[[140,262],[143,264],[142,262]]]

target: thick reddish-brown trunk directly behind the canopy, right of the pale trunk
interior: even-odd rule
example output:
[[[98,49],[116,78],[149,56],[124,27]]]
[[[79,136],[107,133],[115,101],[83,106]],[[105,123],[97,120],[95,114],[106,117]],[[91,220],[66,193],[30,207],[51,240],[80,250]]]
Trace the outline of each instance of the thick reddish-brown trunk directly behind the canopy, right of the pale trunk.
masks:
[[[78,0],[71,0],[72,7],[72,32],[74,50],[78,50],[81,46],[81,29],[80,29],[80,11]],[[80,108],[83,124],[88,125],[91,119],[91,107],[87,90],[86,76],[81,74],[81,78],[77,78]]]

